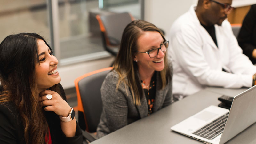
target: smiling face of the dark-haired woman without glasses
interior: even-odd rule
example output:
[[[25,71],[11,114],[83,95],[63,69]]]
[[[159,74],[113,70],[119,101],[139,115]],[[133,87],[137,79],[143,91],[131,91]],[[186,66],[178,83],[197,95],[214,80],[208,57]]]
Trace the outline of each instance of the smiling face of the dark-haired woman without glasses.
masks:
[[[61,77],[57,71],[58,60],[52,55],[49,47],[41,39],[37,40],[38,59],[36,63],[36,84],[39,92],[60,83]]]

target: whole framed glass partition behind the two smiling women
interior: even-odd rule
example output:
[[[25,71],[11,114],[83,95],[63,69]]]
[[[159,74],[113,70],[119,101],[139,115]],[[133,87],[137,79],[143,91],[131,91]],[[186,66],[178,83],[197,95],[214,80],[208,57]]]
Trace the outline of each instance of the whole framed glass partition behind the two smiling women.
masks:
[[[52,3],[56,2],[56,5]],[[60,65],[109,57],[95,16],[130,12],[142,18],[141,0],[1,0],[0,41],[20,32],[43,36]],[[99,6],[102,7],[99,8]],[[55,36],[55,37],[54,37]],[[57,45],[57,46],[56,46]],[[55,49],[56,46],[56,49]]]

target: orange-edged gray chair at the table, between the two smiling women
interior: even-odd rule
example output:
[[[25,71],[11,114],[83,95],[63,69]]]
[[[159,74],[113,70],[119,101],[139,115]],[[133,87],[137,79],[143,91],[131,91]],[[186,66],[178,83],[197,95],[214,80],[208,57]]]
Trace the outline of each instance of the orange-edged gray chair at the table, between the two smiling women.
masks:
[[[95,140],[88,132],[96,132],[102,112],[100,88],[112,67],[99,69],[75,79],[78,124],[83,131],[84,140]],[[85,131],[86,130],[86,131]]]

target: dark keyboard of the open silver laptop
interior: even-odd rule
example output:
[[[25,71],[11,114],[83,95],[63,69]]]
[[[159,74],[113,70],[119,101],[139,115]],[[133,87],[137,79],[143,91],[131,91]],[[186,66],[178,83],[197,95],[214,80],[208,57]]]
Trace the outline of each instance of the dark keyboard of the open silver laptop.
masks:
[[[214,120],[212,123],[205,125],[193,134],[212,140],[223,132],[227,117],[228,113]]]

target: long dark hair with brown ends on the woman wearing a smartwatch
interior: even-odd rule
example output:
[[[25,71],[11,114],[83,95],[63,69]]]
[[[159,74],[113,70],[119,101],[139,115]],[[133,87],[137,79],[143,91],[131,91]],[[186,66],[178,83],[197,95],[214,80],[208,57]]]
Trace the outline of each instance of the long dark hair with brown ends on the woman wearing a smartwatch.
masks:
[[[44,137],[49,135],[44,112],[38,104],[35,78],[35,66],[39,62],[38,39],[50,48],[44,38],[35,33],[10,35],[0,44],[0,104],[12,102],[16,106],[28,144],[44,144]],[[57,85],[51,89],[59,92]]]

